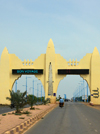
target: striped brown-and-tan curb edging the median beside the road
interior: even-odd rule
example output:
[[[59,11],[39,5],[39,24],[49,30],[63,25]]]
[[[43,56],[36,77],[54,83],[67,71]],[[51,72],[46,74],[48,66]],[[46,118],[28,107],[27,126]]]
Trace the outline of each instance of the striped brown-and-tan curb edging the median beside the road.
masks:
[[[6,131],[4,134],[22,134],[24,131],[26,131],[30,126],[32,126],[36,121],[40,120],[41,117],[44,117],[47,113],[49,113],[51,110],[56,108],[58,104],[48,108],[45,111],[40,112],[39,114],[35,115],[32,118],[29,118],[24,123],[21,123],[20,125],[16,126],[15,128],[12,128],[9,131]]]

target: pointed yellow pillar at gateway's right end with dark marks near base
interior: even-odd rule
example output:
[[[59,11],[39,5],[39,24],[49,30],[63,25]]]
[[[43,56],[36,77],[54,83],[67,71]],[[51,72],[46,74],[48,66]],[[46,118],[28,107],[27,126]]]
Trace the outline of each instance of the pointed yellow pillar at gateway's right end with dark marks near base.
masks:
[[[94,104],[100,105],[100,55],[97,48],[94,48],[91,57],[91,94],[97,93],[93,90],[99,89],[99,97],[94,98],[95,95],[91,96],[91,101]]]

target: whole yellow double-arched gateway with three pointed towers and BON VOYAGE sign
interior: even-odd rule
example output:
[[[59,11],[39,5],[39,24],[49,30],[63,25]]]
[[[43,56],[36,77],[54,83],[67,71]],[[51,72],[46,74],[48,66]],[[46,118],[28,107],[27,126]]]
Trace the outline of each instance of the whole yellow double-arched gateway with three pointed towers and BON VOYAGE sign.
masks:
[[[34,74],[41,80],[45,98],[56,101],[59,82],[70,74],[80,75],[87,81],[91,94],[91,101],[100,104],[100,55],[97,48],[88,53],[83,59],[66,61],[60,54],[55,54],[54,44],[49,40],[46,54],[41,54],[35,61],[21,61],[15,54],[9,54],[5,47],[0,60],[0,104],[10,104],[9,89],[12,90],[15,80],[23,74]]]

